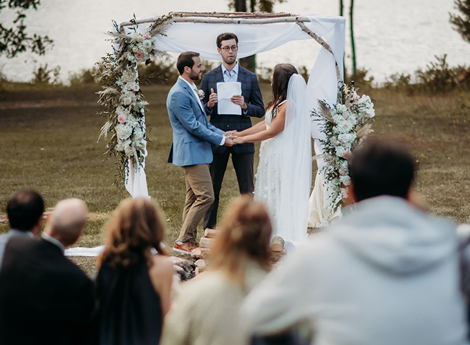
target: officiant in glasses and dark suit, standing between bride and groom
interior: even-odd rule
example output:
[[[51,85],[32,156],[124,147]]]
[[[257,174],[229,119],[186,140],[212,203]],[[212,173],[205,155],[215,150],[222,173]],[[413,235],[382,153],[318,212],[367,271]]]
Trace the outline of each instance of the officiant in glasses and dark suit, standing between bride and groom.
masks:
[[[222,56],[222,64],[207,72],[200,89],[204,91],[203,103],[210,122],[225,131],[241,131],[252,126],[252,117],[263,117],[265,110],[258,79],[253,72],[243,68],[236,62],[238,37],[226,32],[217,37],[217,52]],[[232,97],[232,102],[242,109],[242,115],[218,114],[217,83],[238,81],[241,83],[241,95]],[[215,228],[217,222],[218,199],[223,176],[227,168],[229,155],[235,168],[238,188],[241,194],[254,192],[253,160],[254,144],[247,143],[232,147],[212,146],[214,160],[210,165],[212,186],[214,187],[214,203],[204,216],[204,228]]]

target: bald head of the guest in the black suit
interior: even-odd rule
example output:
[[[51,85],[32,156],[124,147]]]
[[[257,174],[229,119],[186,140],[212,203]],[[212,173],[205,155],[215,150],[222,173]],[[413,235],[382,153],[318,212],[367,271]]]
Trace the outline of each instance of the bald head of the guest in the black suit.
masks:
[[[44,232],[64,246],[74,244],[86,223],[86,204],[81,199],[59,201],[48,218]]]

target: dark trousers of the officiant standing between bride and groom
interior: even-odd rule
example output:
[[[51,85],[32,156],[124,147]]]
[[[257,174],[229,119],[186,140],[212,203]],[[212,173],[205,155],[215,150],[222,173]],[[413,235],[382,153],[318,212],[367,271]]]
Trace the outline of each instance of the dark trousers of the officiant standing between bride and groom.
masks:
[[[220,188],[227,169],[229,156],[232,155],[232,164],[234,165],[236,179],[238,180],[238,188],[240,194],[253,195],[253,161],[254,153],[245,153],[237,155],[232,147],[227,148],[221,155],[214,153],[214,160],[209,166],[212,178],[212,187],[214,188],[214,203],[209,207],[204,215],[204,228],[215,228],[217,224],[218,199],[220,196]]]

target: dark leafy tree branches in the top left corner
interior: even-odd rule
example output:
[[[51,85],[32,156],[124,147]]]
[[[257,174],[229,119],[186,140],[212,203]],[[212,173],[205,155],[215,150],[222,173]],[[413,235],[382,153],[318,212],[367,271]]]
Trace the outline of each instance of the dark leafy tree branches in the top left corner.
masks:
[[[30,8],[37,10],[40,2],[40,0],[0,0],[0,13],[5,8],[16,10],[16,17],[11,28],[5,26],[4,21],[0,23],[0,56],[6,55],[12,58],[26,50],[44,55],[48,46],[53,43],[48,36],[30,35],[26,32],[25,12]]]

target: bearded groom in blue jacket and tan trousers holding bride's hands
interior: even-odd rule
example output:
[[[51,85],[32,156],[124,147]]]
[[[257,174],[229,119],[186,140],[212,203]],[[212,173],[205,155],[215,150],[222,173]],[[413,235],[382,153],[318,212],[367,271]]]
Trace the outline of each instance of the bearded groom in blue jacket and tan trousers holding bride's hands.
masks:
[[[167,110],[173,128],[173,144],[168,162],[185,172],[186,201],[182,214],[180,236],[173,250],[191,253],[198,246],[197,226],[214,202],[214,189],[209,172],[213,146],[232,146],[227,136],[207,121],[203,103],[194,81],[200,79],[204,68],[198,52],[182,52],[176,61],[178,81],[167,97]]]

